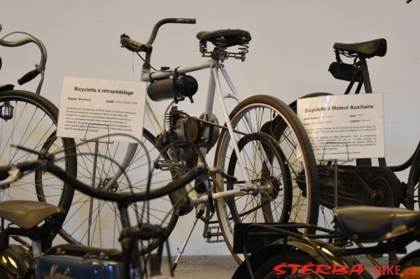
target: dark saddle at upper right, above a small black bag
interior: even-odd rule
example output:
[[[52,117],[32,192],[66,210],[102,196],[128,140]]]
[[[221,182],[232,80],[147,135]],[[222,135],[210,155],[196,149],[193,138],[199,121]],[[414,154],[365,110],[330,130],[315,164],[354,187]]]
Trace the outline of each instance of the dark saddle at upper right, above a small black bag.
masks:
[[[364,58],[374,56],[382,57],[386,55],[386,40],[384,38],[377,38],[376,40],[363,43],[335,43],[334,49],[343,50]]]

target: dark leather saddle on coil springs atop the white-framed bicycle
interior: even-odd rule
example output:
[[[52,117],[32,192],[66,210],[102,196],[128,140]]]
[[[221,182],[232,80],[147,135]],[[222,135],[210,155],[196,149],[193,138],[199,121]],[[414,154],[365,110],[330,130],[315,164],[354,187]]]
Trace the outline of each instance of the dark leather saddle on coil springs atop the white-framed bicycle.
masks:
[[[200,43],[213,43],[216,47],[229,48],[234,45],[251,41],[251,34],[241,29],[220,29],[216,31],[201,31],[197,33]]]

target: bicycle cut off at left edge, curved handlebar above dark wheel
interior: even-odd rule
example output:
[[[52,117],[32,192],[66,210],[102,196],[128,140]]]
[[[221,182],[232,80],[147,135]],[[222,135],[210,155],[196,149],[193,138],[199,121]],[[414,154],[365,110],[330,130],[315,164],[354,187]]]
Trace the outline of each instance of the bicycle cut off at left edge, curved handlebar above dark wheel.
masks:
[[[0,25],[1,31],[1,25]],[[24,36],[9,39],[10,36]],[[45,45],[38,38],[25,32],[12,32],[0,38],[0,45],[6,48],[17,48],[27,44],[34,44],[41,52],[41,59],[35,69],[18,79],[19,85],[34,80],[38,75],[36,92],[16,90],[14,85],[0,85],[0,165],[13,164],[29,159],[36,159],[36,155],[27,150],[14,149],[11,145],[31,146],[33,150],[41,148],[50,152],[64,150],[65,156],[60,162],[55,162],[71,175],[76,176],[77,162],[75,142],[71,138],[57,138],[58,109],[50,101],[41,96],[41,88],[45,76],[47,51]],[[0,68],[16,67],[16,62],[0,59]],[[0,201],[26,199],[32,201],[48,201],[69,210],[74,190],[66,187],[61,180],[34,171],[33,176],[25,176],[0,187]]]

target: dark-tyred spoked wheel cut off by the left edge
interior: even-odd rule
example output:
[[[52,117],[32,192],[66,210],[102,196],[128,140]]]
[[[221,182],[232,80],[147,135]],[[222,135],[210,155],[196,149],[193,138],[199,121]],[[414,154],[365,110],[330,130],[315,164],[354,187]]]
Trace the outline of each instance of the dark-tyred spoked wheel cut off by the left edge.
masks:
[[[56,153],[57,166],[76,175],[74,141],[57,138],[58,109],[47,99],[31,92],[8,90],[0,92],[0,164],[37,159],[36,153],[20,150],[11,145],[40,152],[45,148]],[[0,189],[0,200],[38,200],[69,210],[73,188],[41,170],[34,176],[25,176]]]

